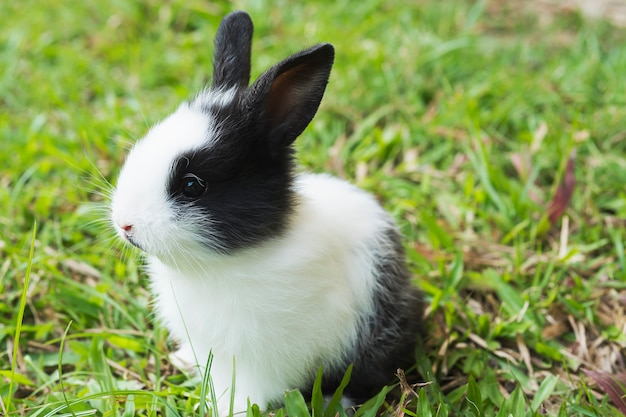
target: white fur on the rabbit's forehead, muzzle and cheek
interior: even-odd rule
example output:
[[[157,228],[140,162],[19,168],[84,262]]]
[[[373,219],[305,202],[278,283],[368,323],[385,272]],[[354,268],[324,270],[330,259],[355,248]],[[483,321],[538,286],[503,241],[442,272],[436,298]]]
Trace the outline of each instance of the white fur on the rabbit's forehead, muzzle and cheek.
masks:
[[[217,94],[232,99],[232,94]],[[141,242],[147,253],[178,257],[169,241],[192,245],[193,230],[181,229],[173,219],[165,184],[174,158],[183,152],[211,146],[215,135],[214,121],[202,111],[198,101],[184,103],[165,120],[155,125],[135,144],[120,172],[113,194],[112,220],[120,236],[123,227]],[[188,213],[193,215],[193,213]]]

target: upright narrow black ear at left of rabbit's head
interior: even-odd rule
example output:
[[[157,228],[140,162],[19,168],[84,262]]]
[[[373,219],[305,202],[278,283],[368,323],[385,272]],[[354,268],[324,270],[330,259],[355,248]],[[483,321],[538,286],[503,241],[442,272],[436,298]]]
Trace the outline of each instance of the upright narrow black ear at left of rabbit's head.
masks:
[[[248,86],[253,30],[246,12],[232,12],[222,19],[215,36],[213,89]]]

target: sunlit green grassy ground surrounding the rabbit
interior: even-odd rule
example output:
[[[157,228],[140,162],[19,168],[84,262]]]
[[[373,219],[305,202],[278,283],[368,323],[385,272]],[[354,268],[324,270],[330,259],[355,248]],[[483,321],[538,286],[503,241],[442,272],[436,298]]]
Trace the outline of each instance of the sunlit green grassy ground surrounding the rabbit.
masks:
[[[618,416],[626,31],[472,3],[235,6],[256,24],[255,74],[335,44],[300,159],[376,193],[406,235],[429,302],[425,384],[380,412]],[[207,81],[231,7],[0,2],[0,414],[204,415],[140,260],[108,238],[102,185]]]

